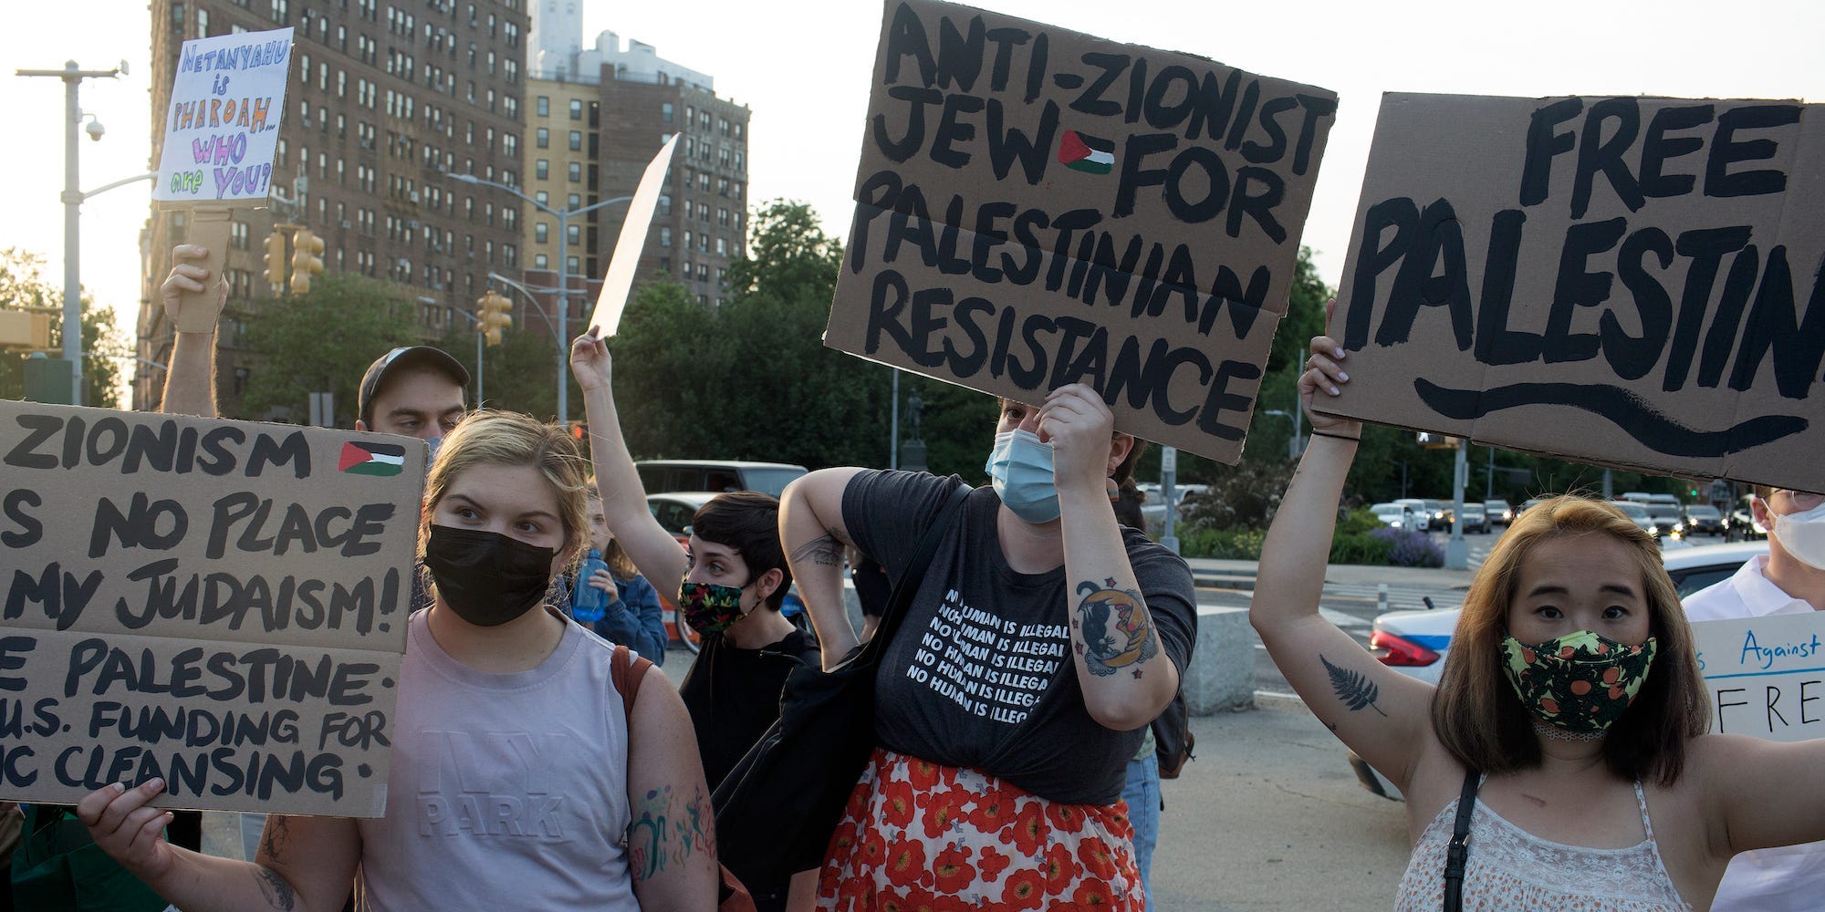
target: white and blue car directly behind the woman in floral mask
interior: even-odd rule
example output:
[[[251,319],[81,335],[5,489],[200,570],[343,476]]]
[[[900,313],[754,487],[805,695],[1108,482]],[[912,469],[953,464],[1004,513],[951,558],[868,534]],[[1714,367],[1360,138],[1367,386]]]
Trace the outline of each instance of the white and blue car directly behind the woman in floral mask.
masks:
[[[1622,503],[1617,503],[1619,507]],[[1719,545],[1697,545],[1661,554],[1666,575],[1674,580],[1679,598],[1684,598],[1706,586],[1730,578],[1748,558],[1765,554],[1768,545],[1761,542],[1736,542]],[[1464,609],[1445,607],[1431,611],[1389,611],[1374,618],[1369,633],[1369,649],[1382,664],[1402,675],[1438,684],[1438,673],[1445,668],[1445,655],[1451,653],[1451,635],[1458,627],[1458,615]],[[1350,753],[1350,768],[1363,788],[1385,797],[1398,797],[1398,792],[1376,775],[1374,768],[1361,757]]]

